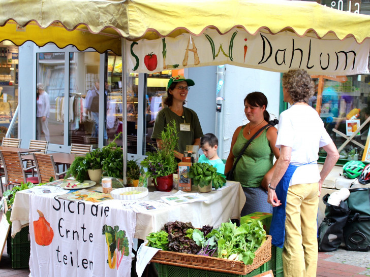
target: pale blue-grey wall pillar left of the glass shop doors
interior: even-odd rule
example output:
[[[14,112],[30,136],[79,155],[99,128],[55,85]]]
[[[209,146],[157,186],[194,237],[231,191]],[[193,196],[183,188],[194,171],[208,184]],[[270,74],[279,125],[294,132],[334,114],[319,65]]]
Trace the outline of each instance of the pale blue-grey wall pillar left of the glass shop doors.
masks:
[[[36,46],[35,46],[36,47]],[[21,147],[28,148],[29,141],[36,137],[36,80],[34,72],[34,43],[26,42],[19,47],[19,137],[22,139]]]

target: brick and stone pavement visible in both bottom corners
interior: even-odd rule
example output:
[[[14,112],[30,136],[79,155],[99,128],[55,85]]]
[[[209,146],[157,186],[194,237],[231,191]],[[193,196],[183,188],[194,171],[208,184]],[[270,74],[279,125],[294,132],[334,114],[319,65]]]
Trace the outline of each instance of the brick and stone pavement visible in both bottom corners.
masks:
[[[0,260],[0,277],[28,276],[28,268],[12,268],[12,262],[6,253],[6,249],[5,247]],[[333,252],[321,252],[319,253],[317,276],[370,276],[370,255],[368,252],[346,251],[343,248]]]

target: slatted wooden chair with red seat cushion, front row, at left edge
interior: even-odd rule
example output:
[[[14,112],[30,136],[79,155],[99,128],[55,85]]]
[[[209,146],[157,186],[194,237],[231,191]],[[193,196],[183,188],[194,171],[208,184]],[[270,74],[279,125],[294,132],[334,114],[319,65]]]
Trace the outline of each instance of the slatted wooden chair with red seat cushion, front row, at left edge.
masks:
[[[22,157],[19,152],[15,151],[0,151],[0,157],[4,164],[6,186],[9,185],[20,185],[21,182],[31,182],[38,184],[39,179],[37,177],[26,178]],[[3,189],[3,187],[2,187]]]

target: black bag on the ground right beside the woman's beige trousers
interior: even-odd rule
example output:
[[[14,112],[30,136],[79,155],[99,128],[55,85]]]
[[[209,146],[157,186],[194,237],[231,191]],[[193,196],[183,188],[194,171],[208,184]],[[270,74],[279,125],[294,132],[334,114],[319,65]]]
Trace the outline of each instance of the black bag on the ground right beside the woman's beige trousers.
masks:
[[[325,218],[319,227],[318,245],[320,252],[337,250],[342,243],[343,228],[346,225],[350,210],[345,201],[341,201],[339,206],[329,204],[329,194],[322,200],[325,207]]]

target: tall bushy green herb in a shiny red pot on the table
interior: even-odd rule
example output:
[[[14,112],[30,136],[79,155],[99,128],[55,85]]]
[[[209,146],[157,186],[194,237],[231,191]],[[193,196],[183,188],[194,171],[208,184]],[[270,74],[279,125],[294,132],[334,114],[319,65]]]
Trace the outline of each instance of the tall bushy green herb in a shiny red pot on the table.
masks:
[[[176,171],[175,148],[178,141],[178,131],[175,121],[167,124],[161,132],[162,147],[153,146],[156,150],[148,152],[141,165],[147,168],[147,176],[153,178],[154,185],[159,191],[171,191],[173,172]]]

